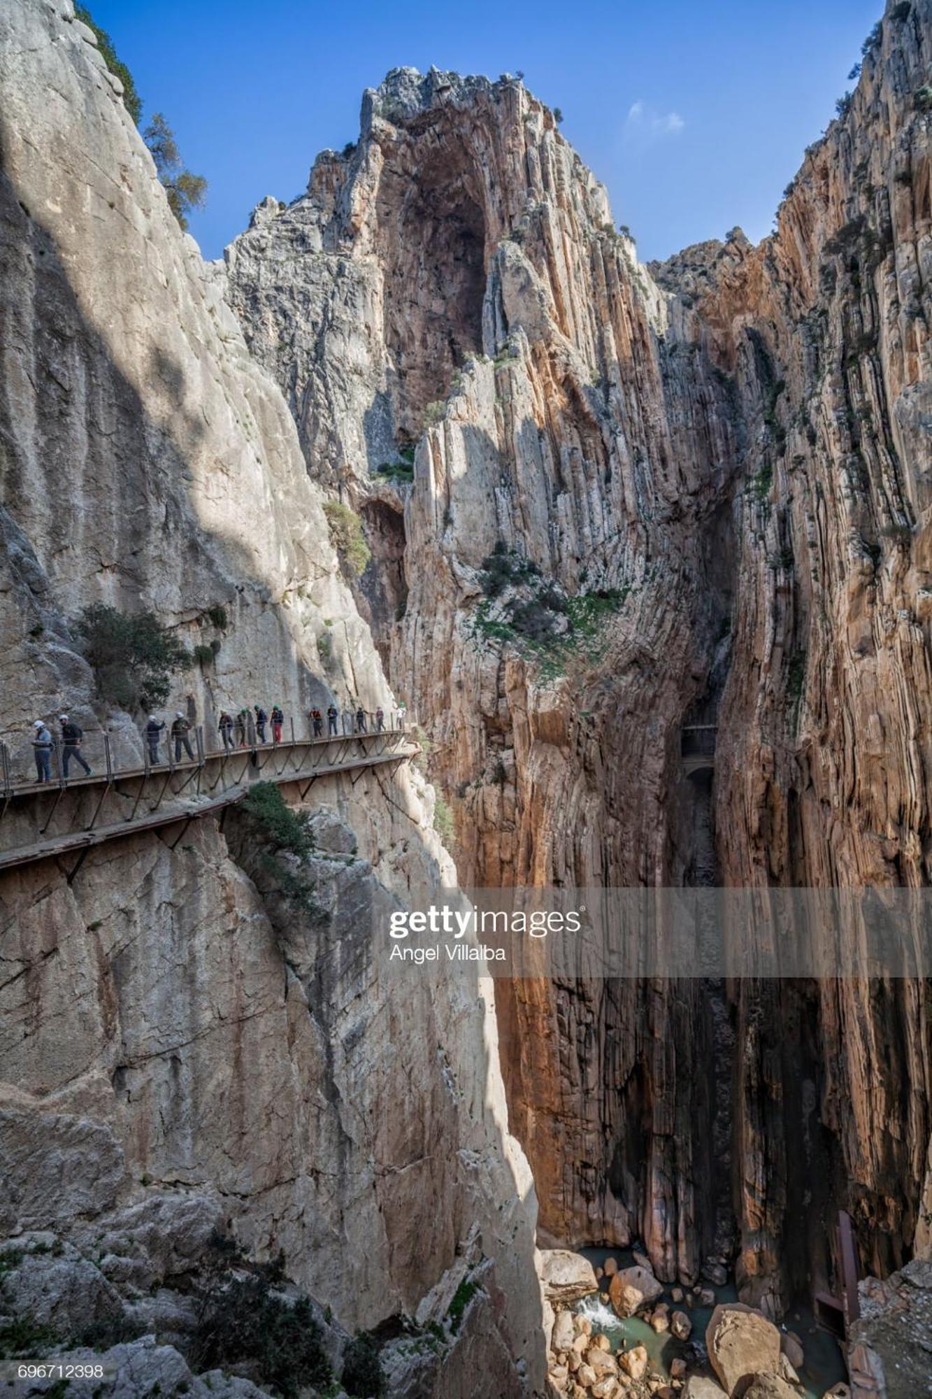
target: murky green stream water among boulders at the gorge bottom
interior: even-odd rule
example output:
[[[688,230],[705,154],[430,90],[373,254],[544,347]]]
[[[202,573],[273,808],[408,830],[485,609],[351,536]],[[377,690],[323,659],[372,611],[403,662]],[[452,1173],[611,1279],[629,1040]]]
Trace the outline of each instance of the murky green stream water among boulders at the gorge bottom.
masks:
[[[602,1267],[606,1258],[617,1259],[619,1267],[628,1267],[634,1262],[631,1251],[624,1248],[582,1248],[579,1252],[589,1259],[593,1267]],[[584,1297],[574,1311],[581,1316],[588,1316],[592,1321],[593,1330],[602,1332],[609,1337],[613,1350],[619,1350],[623,1344],[626,1349],[644,1346],[651,1358],[651,1368],[663,1375],[669,1375],[670,1361],[676,1360],[677,1356],[683,1356],[689,1361],[691,1372],[694,1368],[701,1368],[696,1363],[697,1353],[694,1346],[700,1346],[701,1353],[705,1354],[705,1328],[712,1315],[712,1308],[690,1308],[686,1302],[675,1302],[670,1297],[673,1286],[663,1287],[662,1300],[669,1304],[670,1311],[686,1312],[693,1322],[693,1332],[689,1342],[677,1340],[669,1332],[658,1336],[654,1328],[648,1326],[638,1316],[627,1316],[621,1321],[607,1302],[600,1301],[598,1293]],[[707,1284],[702,1283],[702,1286]],[[737,1300],[737,1293],[730,1284],[726,1287],[714,1287],[712,1291],[715,1293],[716,1304]],[[830,1389],[840,1379],[847,1379],[847,1370],[838,1344],[827,1332],[816,1328],[812,1312],[803,1307],[791,1308],[789,1314],[784,1318],[784,1329],[793,1330],[799,1336],[806,1354],[806,1364],[799,1375],[806,1399],[821,1399],[826,1389]],[[711,1374],[711,1370],[705,1370],[704,1372]]]

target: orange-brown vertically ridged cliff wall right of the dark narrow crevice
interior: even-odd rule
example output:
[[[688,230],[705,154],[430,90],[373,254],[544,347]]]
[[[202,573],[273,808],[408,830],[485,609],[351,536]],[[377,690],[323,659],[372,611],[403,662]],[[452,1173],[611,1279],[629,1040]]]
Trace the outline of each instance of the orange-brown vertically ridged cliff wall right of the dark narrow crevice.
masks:
[[[929,883],[931,20],[928,4],[890,6],[772,238],[689,249],[659,273],[736,375],[747,421],[716,753],[729,883]],[[821,1158],[863,1262],[900,1266],[929,1245],[926,992],[845,982],[763,1003],[764,1024],[807,1003],[819,1108],[786,1112],[761,1002],[742,993],[749,1234],[781,1252],[800,1160]]]

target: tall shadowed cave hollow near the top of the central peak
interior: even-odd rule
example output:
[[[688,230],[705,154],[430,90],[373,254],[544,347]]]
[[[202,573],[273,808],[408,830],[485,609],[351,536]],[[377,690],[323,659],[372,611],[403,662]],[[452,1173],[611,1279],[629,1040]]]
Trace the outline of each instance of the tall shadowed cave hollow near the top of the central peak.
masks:
[[[446,397],[458,368],[481,353],[486,220],[469,159],[455,143],[424,165],[386,173],[382,192],[389,203],[397,193],[385,243],[396,424],[416,438],[427,404]]]

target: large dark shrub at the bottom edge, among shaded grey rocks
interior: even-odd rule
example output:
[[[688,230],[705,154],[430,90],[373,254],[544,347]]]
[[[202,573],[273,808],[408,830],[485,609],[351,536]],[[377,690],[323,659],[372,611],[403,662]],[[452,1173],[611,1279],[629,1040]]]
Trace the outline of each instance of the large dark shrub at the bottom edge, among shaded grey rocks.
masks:
[[[288,1302],[257,1276],[211,1288],[202,1302],[190,1358],[196,1370],[250,1361],[259,1384],[273,1386],[283,1399],[298,1399],[305,1386],[322,1389],[333,1379],[311,1302],[306,1297]]]

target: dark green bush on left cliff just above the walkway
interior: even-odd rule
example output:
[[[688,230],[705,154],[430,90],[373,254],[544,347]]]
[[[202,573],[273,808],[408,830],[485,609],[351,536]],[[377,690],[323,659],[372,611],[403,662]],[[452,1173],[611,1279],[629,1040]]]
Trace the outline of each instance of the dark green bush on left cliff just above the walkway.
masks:
[[[94,603],[74,625],[101,695],[120,709],[165,704],[172,673],[192,663],[190,652],[151,611],[127,616]]]

